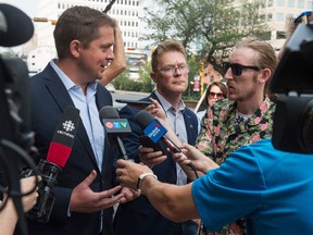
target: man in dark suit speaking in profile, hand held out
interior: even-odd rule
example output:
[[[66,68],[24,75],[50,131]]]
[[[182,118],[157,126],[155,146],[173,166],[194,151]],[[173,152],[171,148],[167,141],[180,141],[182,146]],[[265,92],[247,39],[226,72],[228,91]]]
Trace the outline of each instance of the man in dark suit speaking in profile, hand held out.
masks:
[[[99,110],[111,106],[112,97],[97,79],[114,59],[115,26],[110,16],[90,8],[67,9],[53,33],[59,59],[30,78],[32,125],[40,158],[47,157],[64,108],[80,111],[72,153],[53,188],[50,221],[29,221],[32,235],[113,234],[112,206],[125,198],[113,184],[114,153],[99,119]]]

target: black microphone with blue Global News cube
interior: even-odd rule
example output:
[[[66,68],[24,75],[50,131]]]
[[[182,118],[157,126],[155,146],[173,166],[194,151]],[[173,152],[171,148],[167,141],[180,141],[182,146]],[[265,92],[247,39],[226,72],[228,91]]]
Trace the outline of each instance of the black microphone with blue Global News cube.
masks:
[[[151,113],[146,110],[140,110],[136,114],[135,121],[143,129],[145,135],[152,140],[152,143],[156,144],[159,140],[161,140],[167,148],[170,148],[172,152],[181,152],[177,145],[166,137],[165,134],[167,129],[158,120],[155,120]]]

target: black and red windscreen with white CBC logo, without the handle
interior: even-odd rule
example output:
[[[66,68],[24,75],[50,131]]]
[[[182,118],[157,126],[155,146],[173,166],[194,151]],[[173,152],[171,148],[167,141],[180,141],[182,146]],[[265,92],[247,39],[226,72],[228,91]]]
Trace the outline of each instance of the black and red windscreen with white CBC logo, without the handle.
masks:
[[[79,110],[66,107],[54,131],[47,161],[63,168],[71,154],[79,124]]]

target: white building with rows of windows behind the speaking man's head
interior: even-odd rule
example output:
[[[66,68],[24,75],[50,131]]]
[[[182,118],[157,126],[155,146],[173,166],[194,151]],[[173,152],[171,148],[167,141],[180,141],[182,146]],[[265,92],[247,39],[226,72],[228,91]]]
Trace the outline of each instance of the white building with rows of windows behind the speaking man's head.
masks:
[[[34,18],[36,48],[28,54],[27,65],[30,72],[36,73],[45,69],[48,61],[57,57],[53,40],[53,29],[58,17],[68,8],[87,5],[104,11],[111,0],[38,0],[38,15]],[[108,14],[117,21],[122,30],[125,51],[127,48],[143,50],[140,41],[142,25],[143,0],[116,0]]]

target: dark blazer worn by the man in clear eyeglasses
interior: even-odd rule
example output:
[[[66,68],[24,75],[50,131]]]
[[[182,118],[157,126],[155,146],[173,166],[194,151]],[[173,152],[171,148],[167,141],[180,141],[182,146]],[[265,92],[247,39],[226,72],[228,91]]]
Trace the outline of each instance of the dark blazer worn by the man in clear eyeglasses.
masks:
[[[150,97],[160,102],[154,92],[142,100],[149,100]],[[135,122],[135,115],[138,111],[139,109],[130,106],[126,106],[120,111],[120,116],[127,119],[132,127],[132,134],[123,138],[123,143],[128,157],[136,162],[140,161],[138,157],[138,147],[141,145],[139,137],[143,135],[141,127]],[[184,119],[186,124],[184,128],[187,131],[188,143],[193,145],[198,136],[198,119],[187,108],[184,111]],[[163,148],[166,149],[164,145]],[[176,163],[171,153],[167,154],[167,159],[164,162],[153,166],[153,172],[158,175],[159,181],[176,184]],[[161,215],[146,196],[140,196],[134,201],[120,205],[114,218],[115,235],[165,235],[171,234],[170,227],[173,226],[177,227],[179,224],[171,222]]]

